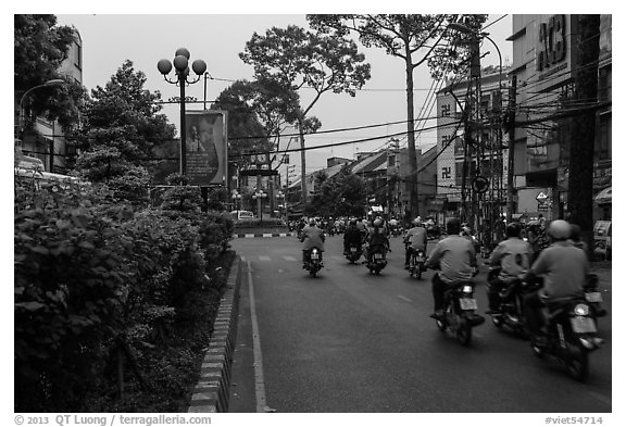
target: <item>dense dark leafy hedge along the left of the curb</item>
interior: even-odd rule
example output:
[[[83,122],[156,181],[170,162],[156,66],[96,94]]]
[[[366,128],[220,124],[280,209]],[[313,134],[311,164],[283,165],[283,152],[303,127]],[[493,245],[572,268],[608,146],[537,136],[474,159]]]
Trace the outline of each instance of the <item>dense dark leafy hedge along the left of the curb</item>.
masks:
[[[215,286],[233,222],[40,187],[15,181],[15,412],[92,411],[129,376],[151,387],[141,366],[178,339],[189,296]],[[180,375],[166,365],[165,384]]]

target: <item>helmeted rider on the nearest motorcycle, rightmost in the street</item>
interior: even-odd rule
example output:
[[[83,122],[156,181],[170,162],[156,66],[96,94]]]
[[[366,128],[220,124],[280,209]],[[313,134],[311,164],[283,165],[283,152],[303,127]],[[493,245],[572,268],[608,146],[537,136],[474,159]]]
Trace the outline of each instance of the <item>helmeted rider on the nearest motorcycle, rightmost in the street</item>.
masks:
[[[543,286],[524,298],[528,331],[538,343],[544,343],[541,330],[543,315],[541,307],[551,301],[584,296],[584,285],[589,271],[585,252],[567,240],[572,233],[569,223],[555,219],[548,227],[551,244],[543,249],[524,279],[543,276]]]

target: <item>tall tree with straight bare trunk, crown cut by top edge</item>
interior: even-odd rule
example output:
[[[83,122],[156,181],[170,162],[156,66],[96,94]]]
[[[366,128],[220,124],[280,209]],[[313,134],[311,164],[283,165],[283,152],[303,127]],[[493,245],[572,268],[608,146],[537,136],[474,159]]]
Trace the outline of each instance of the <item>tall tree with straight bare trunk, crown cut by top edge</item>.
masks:
[[[468,15],[465,25],[474,27],[474,24],[483,23],[486,18],[487,15]],[[409,176],[408,184],[411,215],[416,215],[418,213],[418,194],[413,71],[434,58],[438,52],[437,49],[441,48],[443,40],[459,37],[447,32],[448,24],[456,22],[459,15],[306,15],[306,20],[313,28],[320,32],[333,32],[339,37],[355,32],[359,34],[359,40],[363,46],[385,49],[387,54],[404,61],[409,162],[411,171],[414,172]],[[437,62],[433,64],[435,65]]]

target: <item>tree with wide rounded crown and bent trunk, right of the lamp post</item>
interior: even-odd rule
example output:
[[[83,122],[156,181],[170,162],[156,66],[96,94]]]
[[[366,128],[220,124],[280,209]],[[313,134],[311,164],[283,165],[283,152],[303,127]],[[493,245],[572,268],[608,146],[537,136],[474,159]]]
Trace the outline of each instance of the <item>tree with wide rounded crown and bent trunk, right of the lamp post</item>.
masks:
[[[302,166],[302,202],[306,205],[306,155],[304,134],[318,128],[318,121],[308,121],[308,114],[326,92],[355,96],[356,89],[370,79],[370,64],[359,53],[356,45],[340,36],[314,34],[298,26],[273,27],[265,36],[256,33],[246,43],[241,60],[254,66],[259,80],[277,81],[298,91],[313,90],[313,98],[298,116]]]

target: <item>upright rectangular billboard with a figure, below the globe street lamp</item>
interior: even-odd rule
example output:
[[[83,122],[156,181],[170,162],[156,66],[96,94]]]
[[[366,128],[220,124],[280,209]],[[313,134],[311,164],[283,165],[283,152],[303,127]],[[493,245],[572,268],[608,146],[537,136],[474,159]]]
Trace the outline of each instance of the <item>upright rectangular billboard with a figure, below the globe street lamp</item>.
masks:
[[[186,112],[185,155],[189,185],[226,185],[228,160],[226,123],[225,111]]]

